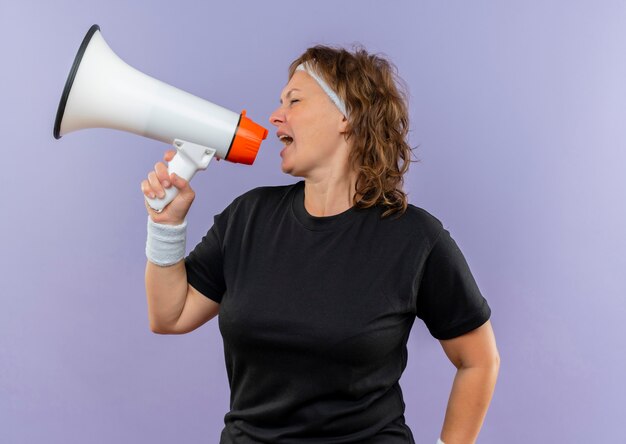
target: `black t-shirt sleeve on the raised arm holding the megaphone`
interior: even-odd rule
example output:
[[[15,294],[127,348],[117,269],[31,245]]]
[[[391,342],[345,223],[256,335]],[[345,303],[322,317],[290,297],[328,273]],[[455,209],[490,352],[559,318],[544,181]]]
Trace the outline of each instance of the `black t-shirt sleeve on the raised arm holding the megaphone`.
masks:
[[[229,215],[230,206],[216,215],[213,226],[185,258],[187,282],[217,303],[226,291],[223,245]]]

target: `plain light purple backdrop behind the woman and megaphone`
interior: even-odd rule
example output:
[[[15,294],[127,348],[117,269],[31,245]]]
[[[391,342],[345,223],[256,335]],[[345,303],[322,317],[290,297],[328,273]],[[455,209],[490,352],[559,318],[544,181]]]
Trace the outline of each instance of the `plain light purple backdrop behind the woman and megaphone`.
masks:
[[[267,119],[316,43],[388,55],[439,217],[492,310],[502,364],[481,443],[626,442],[626,6],[620,1],[0,0],[0,442],[217,442],[217,322],[150,332],[141,180],[168,149],[92,129],[53,139],[97,23],[127,63],[270,129],[252,167],[194,178],[188,250],[234,197],[298,179]],[[417,443],[455,368],[418,320],[402,379]]]

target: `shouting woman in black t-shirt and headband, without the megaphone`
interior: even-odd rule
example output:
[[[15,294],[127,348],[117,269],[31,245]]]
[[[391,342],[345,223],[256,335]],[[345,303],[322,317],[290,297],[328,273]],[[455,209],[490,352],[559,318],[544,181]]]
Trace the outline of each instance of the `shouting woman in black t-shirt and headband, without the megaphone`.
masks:
[[[401,189],[398,81],[365,50],[308,49],[270,117],[283,172],[304,180],[236,198],[184,260],[194,192],[163,163],[142,182],[150,197],[179,189],[160,214],[146,205],[152,331],[220,314],[221,443],[413,443],[398,380],[416,316],[458,369],[440,442],[478,436],[499,366],[491,310],[450,233]]]

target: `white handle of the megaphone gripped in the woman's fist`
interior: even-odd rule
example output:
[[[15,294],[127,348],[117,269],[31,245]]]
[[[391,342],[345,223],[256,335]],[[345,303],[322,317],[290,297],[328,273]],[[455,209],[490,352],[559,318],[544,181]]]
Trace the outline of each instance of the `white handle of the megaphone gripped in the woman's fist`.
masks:
[[[191,180],[196,171],[204,170],[209,166],[209,162],[215,155],[215,149],[198,145],[184,140],[174,140],[174,147],[178,151],[174,158],[167,164],[168,174],[175,173],[187,182]],[[178,188],[172,185],[165,189],[165,197],[162,199],[150,199],[146,201],[150,208],[160,213],[178,194]]]

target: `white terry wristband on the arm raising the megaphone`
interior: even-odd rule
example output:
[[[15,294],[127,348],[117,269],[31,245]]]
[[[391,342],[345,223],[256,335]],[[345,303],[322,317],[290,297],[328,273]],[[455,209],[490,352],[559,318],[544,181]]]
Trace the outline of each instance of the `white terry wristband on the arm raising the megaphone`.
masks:
[[[160,267],[174,265],[185,257],[186,238],[186,219],[180,225],[164,225],[154,222],[148,216],[146,257]]]

